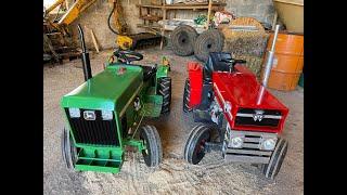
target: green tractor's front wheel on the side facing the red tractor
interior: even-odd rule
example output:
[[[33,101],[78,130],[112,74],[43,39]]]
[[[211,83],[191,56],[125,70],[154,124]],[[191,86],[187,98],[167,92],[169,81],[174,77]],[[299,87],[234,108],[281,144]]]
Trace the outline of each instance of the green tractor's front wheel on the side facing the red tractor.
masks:
[[[146,166],[157,167],[163,159],[162,141],[158,131],[154,126],[144,126],[140,131],[140,139],[145,145],[142,151]]]

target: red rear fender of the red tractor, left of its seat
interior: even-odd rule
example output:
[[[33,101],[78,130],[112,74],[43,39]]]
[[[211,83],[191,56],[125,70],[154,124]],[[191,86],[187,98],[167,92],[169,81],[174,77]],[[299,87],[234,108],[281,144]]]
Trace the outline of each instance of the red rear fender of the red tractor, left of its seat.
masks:
[[[189,107],[192,108],[202,102],[203,66],[197,62],[189,62],[188,73],[191,88]]]

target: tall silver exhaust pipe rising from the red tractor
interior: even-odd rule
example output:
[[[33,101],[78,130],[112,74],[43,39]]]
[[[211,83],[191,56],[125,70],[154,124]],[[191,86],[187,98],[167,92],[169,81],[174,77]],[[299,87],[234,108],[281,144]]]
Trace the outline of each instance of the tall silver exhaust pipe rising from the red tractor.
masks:
[[[257,105],[261,104],[265,88],[268,87],[268,81],[269,81],[269,77],[271,74],[271,68],[272,68],[272,63],[273,63],[273,57],[274,57],[274,47],[275,47],[275,41],[278,39],[279,30],[280,30],[280,25],[275,25],[274,36],[273,36],[272,43],[271,43],[271,50],[268,51],[268,56],[266,58],[262,81],[261,81],[261,86],[260,86],[260,90],[259,90],[259,95],[257,99]]]

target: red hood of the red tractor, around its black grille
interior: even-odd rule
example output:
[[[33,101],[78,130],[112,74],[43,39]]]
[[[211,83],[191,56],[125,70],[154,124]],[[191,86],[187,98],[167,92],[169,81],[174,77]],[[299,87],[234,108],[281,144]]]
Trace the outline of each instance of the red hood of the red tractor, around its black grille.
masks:
[[[257,98],[259,95],[259,90],[262,87],[246,67],[242,65],[235,65],[235,72],[229,73],[213,73],[214,92],[221,107],[222,101],[218,96],[217,89],[219,89],[220,94],[224,101],[229,101],[232,104],[232,116],[230,118],[227,114],[231,129],[233,130],[256,130],[265,132],[281,132],[285,118],[288,114],[288,108],[286,108],[279,100],[275,99],[268,90],[265,90],[262,101],[257,105]],[[237,127],[234,125],[234,118],[239,107],[243,108],[259,108],[259,109],[279,109],[282,112],[282,119],[279,127]]]

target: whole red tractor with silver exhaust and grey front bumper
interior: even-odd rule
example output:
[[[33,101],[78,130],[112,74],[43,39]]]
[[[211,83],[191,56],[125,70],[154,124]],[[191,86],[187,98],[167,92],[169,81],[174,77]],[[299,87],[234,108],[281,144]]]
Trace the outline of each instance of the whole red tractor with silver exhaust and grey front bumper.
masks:
[[[280,136],[288,108],[266,90],[278,31],[261,84],[246,62],[230,53],[210,53],[205,66],[188,64],[183,110],[205,123],[191,130],[183,152],[188,162],[196,165],[214,150],[224,160],[259,165],[266,178],[278,174],[288,146]]]

